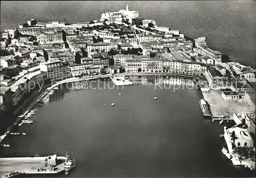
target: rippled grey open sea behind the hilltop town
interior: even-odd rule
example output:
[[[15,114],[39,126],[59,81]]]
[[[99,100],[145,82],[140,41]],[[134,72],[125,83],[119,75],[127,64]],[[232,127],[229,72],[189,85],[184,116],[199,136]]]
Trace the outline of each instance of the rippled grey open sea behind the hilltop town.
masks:
[[[155,19],[191,38],[206,37],[210,48],[255,68],[255,1],[18,1],[1,2],[1,31],[30,18],[87,22],[129,4],[142,18]]]

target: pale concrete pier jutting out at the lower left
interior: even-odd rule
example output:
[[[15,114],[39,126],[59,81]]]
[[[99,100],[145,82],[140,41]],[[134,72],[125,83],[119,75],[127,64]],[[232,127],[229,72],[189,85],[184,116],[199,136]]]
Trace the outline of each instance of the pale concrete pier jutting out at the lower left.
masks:
[[[66,157],[0,158],[0,177],[17,174],[56,174],[65,170]]]

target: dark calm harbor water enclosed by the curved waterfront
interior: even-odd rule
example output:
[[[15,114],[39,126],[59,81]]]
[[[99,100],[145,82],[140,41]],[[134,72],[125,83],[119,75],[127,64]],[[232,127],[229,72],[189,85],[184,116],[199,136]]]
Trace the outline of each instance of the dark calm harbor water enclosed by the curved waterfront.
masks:
[[[124,88],[107,80],[88,89],[57,90],[37,107],[33,124],[13,131],[27,135],[4,140],[11,146],[0,147],[0,157],[63,156],[68,151],[77,164],[71,177],[253,177],[222,154],[223,126],[203,118],[202,93],[193,82],[130,79],[135,84]]]

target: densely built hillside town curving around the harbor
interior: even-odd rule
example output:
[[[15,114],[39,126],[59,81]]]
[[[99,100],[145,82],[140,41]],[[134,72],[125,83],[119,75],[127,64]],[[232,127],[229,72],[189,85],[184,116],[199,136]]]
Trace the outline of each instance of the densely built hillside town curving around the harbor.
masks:
[[[193,75],[207,81],[201,91],[209,104],[210,92],[217,93],[212,97],[220,96],[215,105],[244,104],[245,109],[232,108],[228,113],[236,121],[224,128],[229,154],[255,147],[254,68],[225,59],[226,55],[207,45],[205,37],[190,39],[179,30],[158,27],[154,19],[141,18],[129,5],[99,18],[72,24],[31,19],[5,30],[1,34],[1,114],[23,102],[31,81],[116,73]]]

